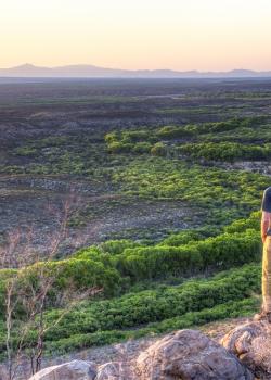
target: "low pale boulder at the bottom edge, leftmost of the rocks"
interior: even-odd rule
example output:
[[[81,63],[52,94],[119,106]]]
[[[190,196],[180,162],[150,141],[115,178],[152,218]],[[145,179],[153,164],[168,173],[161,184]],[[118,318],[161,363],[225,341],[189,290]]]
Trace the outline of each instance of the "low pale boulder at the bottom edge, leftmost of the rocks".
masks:
[[[94,380],[96,366],[93,363],[73,360],[41,369],[29,380]]]

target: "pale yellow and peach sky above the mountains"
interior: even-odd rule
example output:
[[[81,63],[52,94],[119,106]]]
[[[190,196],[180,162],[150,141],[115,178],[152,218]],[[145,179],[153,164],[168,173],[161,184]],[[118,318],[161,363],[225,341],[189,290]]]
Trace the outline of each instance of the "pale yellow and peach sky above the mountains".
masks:
[[[271,0],[0,0],[0,67],[271,69]]]

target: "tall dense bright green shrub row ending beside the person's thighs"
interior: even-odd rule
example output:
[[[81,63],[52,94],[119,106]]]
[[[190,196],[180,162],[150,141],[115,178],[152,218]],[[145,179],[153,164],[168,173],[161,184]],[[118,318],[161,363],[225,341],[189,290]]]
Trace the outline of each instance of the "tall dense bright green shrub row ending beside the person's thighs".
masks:
[[[140,281],[228,269],[259,261],[260,251],[260,235],[250,229],[243,233],[225,232],[180,246],[159,244],[126,249],[120,255],[114,256],[112,263],[122,276]]]

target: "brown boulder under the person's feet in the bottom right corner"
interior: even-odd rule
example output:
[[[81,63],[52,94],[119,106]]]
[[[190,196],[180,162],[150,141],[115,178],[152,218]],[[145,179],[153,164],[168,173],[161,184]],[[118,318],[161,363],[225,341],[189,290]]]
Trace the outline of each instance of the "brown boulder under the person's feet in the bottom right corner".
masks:
[[[220,342],[258,378],[271,379],[271,325],[268,321],[236,326]]]

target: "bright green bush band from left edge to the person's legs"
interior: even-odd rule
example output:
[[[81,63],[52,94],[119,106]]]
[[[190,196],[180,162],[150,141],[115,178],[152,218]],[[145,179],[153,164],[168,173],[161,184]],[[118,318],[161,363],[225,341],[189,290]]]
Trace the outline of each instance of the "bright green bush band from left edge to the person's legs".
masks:
[[[107,241],[82,249],[67,259],[40,262],[22,269],[2,269],[0,296],[3,297],[7,279],[17,271],[25,283],[35,283],[40,266],[44,267],[43,276],[55,277],[54,291],[50,294],[50,302],[53,302],[57,292],[68,288],[70,282],[78,290],[103,288],[103,296],[111,297],[142,281],[206,276],[246,263],[259,262],[261,242],[257,228],[258,216],[258,213],[254,213],[250,218],[227,227],[225,232],[202,240],[186,240],[179,246],[172,246],[175,236],[152,246],[129,240]],[[188,238],[188,232],[183,233],[183,238]]]

